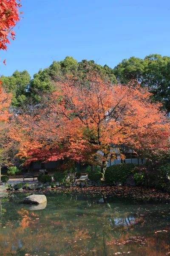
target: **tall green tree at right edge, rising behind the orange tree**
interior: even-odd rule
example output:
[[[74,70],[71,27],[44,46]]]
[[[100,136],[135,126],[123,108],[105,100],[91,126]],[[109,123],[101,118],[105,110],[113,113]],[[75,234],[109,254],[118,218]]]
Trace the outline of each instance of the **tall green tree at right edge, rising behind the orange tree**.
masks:
[[[119,63],[114,74],[120,83],[136,79],[141,86],[149,87],[153,100],[162,102],[163,108],[170,112],[170,57],[152,54],[140,59],[133,56]]]

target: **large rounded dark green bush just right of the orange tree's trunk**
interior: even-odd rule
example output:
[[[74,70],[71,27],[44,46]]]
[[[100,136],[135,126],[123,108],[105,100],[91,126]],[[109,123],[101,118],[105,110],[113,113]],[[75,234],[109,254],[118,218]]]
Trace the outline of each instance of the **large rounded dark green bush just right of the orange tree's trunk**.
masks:
[[[114,185],[116,181],[123,183],[134,168],[136,168],[136,165],[133,163],[120,163],[109,166],[105,171],[105,182],[110,185]]]

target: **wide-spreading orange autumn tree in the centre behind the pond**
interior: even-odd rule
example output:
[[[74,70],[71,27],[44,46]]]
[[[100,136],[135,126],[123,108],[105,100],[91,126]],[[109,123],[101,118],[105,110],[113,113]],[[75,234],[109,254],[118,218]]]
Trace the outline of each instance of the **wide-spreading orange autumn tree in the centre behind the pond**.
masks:
[[[105,172],[111,144],[137,148],[139,134],[157,131],[159,136],[168,129],[161,105],[151,103],[147,88],[139,84],[113,85],[88,73],[83,81],[66,76],[54,86],[40,106],[29,106],[17,116],[19,131],[28,140],[20,146],[20,154],[29,157],[27,163],[70,157],[96,161]]]

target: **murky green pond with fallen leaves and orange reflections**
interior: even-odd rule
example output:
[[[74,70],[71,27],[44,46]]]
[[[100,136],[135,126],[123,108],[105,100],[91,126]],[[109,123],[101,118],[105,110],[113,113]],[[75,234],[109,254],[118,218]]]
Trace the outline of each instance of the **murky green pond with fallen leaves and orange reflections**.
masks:
[[[0,256],[170,255],[167,201],[57,190],[46,205],[21,204],[27,195],[0,199]]]

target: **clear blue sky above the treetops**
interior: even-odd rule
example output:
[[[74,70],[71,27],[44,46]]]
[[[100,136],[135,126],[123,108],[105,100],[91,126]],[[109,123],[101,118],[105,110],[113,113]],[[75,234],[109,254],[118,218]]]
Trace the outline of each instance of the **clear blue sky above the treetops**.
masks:
[[[16,39],[1,50],[0,75],[67,55],[115,67],[122,59],[170,55],[170,0],[22,0]]]

